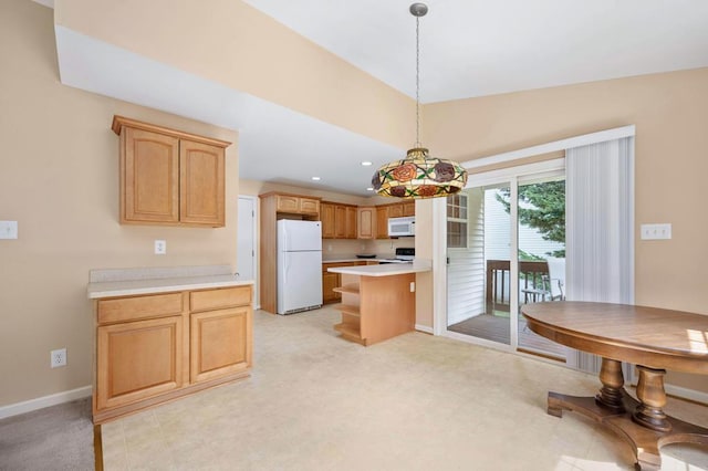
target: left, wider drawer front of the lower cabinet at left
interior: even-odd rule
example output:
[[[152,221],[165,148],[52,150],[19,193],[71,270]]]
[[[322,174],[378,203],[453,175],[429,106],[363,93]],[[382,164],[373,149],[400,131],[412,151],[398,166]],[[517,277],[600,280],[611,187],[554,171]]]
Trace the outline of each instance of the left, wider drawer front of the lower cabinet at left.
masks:
[[[183,311],[181,293],[101,300],[98,324],[180,315]]]

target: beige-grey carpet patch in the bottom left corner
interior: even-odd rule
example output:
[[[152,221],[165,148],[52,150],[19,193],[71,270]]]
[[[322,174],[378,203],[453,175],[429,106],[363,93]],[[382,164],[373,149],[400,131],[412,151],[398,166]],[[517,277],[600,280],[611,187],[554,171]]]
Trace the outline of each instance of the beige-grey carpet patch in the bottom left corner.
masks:
[[[0,420],[0,470],[93,469],[90,398]]]

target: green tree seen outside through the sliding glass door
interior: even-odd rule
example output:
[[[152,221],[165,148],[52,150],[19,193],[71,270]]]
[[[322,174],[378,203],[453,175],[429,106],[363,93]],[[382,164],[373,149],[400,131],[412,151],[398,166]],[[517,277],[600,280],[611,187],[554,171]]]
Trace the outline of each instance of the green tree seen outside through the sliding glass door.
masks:
[[[511,211],[510,190],[500,189],[497,200]],[[565,245],[565,181],[546,181],[519,187],[519,220],[537,229],[543,240]],[[565,249],[546,253],[565,257]]]

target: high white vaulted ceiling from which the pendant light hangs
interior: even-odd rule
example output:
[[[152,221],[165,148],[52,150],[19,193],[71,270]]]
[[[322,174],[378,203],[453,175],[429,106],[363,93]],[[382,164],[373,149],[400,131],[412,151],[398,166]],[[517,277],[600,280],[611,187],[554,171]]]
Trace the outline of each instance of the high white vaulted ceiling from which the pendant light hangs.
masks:
[[[243,0],[415,96],[409,0]],[[428,0],[420,101],[708,65],[706,0]]]

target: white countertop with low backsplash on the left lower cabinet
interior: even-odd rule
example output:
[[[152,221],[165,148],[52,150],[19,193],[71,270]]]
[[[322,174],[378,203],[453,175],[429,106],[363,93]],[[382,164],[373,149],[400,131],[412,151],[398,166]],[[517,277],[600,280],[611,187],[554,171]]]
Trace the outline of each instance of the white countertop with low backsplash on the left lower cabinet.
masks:
[[[229,271],[228,265],[92,270],[86,294],[96,300],[253,284]]]

